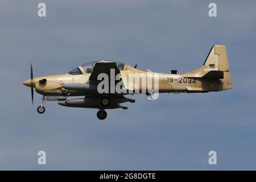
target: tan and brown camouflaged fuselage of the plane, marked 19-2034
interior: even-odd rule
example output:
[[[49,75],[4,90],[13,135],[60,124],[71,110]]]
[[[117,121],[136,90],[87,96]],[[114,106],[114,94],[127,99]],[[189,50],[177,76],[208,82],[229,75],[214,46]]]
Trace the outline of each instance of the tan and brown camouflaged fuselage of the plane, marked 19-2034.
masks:
[[[34,78],[34,87],[36,89],[36,92],[42,95],[64,94],[70,96],[84,96],[84,94],[86,94],[86,90],[82,92],[81,90],[69,90],[62,87],[65,84],[85,84],[89,81],[90,73],[86,73],[86,71],[82,67],[78,68],[80,69],[82,74],[72,75],[72,73],[64,73],[62,75]],[[146,77],[146,80],[154,77],[155,80],[158,81],[157,90],[159,93],[192,93],[220,90],[218,81],[216,79],[205,80],[204,78],[184,77],[183,75],[177,74],[164,74],[154,73],[151,71],[141,71],[139,69],[130,67],[127,64],[125,64],[120,73],[123,84],[126,88],[134,89],[133,93],[142,93],[142,90],[147,89],[148,87],[147,81],[135,81],[135,79],[140,75]],[[133,80],[129,80],[130,75],[134,75]],[[42,80],[44,79],[46,81],[42,82]],[[23,84],[31,86],[31,81],[26,80],[23,82]],[[154,81],[152,81],[152,87],[154,88]]]

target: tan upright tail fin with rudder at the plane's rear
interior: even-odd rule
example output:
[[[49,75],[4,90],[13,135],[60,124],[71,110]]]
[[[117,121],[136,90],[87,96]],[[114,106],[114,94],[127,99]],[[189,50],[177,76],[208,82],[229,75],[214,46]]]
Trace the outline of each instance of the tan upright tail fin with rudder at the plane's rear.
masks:
[[[213,46],[203,67],[185,73],[184,77],[202,77],[219,80],[219,90],[232,89],[226,46]]]

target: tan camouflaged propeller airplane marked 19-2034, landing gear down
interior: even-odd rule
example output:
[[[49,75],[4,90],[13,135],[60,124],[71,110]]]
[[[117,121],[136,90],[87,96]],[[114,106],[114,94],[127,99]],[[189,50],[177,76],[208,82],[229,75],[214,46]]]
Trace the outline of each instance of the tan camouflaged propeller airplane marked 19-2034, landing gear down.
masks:
[[[31,64],[30,79],[23,82],[24,85],[31,87],[32,104],[34,100],[34,88],[37,93],[42,94],[42,104],[38,106],[38,113],[43,114],[46,110],[44,105],[46,101],[57,101],[61,106],[67,107],[87,107],[99,109],[97,111],[98,119],[107,117],[106,109],[127,109],[121,105],[123,102],[134,103],[135,100],[125,97],[127,94],[142,93],[146,90],[146,95],[151,97],[156,93],[207,93],[218,92],[222,90],[232,89],[232,82],[229,73],[228,57],[226,55],[226,46],[213,46],[205,59],[203,66],[183,75],[177,74],[176,70],[171,73],[154,73],[150,70],[141,71],[130,65],[118,61],[94,61],[83,64],[68,73],[62,75],[33,77],[33,69]],[[114,72],[113,72],[114,71]],[[101,80],[98,79],[101,73],[111,77],[119,77],[122,82],[121,90],[127,92],[99,92],[98,85]],[[158,89],[149,92],[148,84],[142,84],[142,81],[134,82],[128,79],[129,74],[140,73],[153,78],[158,82]],[[110,87],[116,86],[117,80],[110,84],[111,80],[107,80],[108,85],[102,88],[110,90]],[[130,86],[131,85],[131,86]],[[136,87],[137,86],[137,87]],[[135,89],[137,88],[137,90]],[[129,91],[129,92],[128,92]],[[138,92],[135,92],[138,91]],[[68,97],[82,96],[82,98]]]

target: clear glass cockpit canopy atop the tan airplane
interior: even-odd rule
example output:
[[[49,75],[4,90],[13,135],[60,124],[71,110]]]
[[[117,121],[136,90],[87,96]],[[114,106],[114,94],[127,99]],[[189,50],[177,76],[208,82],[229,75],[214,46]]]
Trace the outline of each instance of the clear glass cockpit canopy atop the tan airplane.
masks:
[[[73,69],[72,71],[68,72],[70,75],[82,75],[82,71],[81,69],[84,69],[83,71],[85,73],[92,73],[94,65],[97,62],[101,62],[101,61],[93,61],[90,63],[86,63],[86,64],[82,64],[81,67],[77,67],[75,69]],[[118,61],[106,61],[106,62],[114,62],[117,64],[117,68],[119,69],[119,71],[122,71],[123,68],[125,67],[124,63],[118,62]]]

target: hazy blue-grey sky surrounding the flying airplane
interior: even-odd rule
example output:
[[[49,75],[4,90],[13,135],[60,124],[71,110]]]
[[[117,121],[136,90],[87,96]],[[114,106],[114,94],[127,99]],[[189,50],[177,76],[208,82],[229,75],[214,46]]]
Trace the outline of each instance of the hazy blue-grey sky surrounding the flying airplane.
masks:
[[[46,3],[46,17],[38,4]],[[209,17],[208,5],[217,5]],[[0,169],[256,169],[255,1],[0,0]],[[22,85],[96,60],[186,73],[226,45],[232,90],[128,96],[128,110],[46,103]],[[46,151],[46,165],[38,151]],[[208,152],[217,152],[209,165]]]

